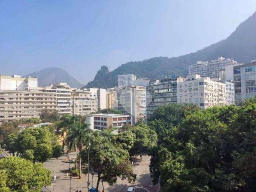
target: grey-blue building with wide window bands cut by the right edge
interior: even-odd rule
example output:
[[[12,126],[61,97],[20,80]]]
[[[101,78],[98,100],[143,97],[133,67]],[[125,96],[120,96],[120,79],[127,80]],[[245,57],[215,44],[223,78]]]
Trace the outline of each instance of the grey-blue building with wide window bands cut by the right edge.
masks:
[[[240,105],[246,98],[256,95],[256,60],[234,66],[235,102]]]

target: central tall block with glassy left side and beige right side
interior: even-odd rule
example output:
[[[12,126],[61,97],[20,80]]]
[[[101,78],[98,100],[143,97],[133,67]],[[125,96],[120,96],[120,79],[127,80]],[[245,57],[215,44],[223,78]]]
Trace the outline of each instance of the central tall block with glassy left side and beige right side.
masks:
[[[118,110],[132,116],[132,124],[146,120],[146,88],[128,86],[118,90]]]

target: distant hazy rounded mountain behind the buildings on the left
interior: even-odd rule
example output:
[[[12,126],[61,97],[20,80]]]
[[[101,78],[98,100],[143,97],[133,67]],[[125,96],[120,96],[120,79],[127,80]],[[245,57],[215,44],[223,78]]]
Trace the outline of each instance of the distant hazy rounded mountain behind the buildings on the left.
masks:
[[[27,74],[25,76],[34,77],[36,73],[38,78],[38,86],[56,84],[58,82],[66,82],[72,88],[80,88],[84,86],[62,68],[46,68],[38,72]]]

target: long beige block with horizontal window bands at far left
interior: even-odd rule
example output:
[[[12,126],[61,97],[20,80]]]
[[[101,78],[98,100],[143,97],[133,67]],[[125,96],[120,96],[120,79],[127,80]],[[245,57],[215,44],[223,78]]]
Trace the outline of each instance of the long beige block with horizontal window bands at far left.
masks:
[[[56,110],[56,92],[0,90],[0,123],[39,117],[45,109]]]

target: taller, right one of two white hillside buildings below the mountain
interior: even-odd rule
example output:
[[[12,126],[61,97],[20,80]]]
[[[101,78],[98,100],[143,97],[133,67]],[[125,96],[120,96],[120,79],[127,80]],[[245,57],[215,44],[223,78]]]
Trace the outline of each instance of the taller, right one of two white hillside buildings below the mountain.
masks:
[[[225,71],[225,66],[228,65],[234,65],[237,64],[233,58],[225,59],[223,57],[219,57],[216,60],[211,60],[208,62],[208,77],[212,78],[219,78],[220,77],[220,72]]]

